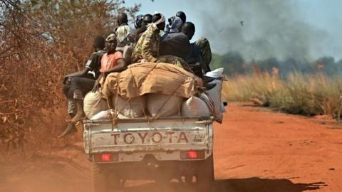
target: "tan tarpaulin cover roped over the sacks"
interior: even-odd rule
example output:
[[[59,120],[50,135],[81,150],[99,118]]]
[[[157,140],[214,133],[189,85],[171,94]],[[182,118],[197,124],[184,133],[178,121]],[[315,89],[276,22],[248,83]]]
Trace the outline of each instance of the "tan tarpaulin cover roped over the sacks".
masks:
[[[103,82],[103,94],[134,98],[160,93],[189,98],[202,87],[196,75],[168,63],[136,63],[121,73],[110,73]]]

